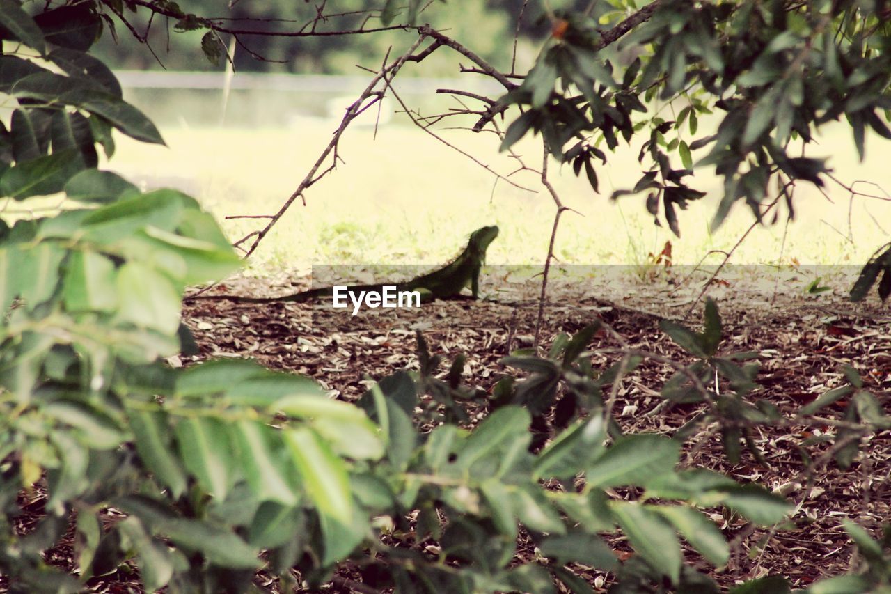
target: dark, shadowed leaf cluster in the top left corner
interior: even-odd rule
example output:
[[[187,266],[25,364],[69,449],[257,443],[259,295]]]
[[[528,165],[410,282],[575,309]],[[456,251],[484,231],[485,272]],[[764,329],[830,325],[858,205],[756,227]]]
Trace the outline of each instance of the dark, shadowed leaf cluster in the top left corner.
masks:
[[[110,70],[86,53],[101,31],[90,3],[35,18],[16,2],[0,6],[7,48],[0,93],[18,103],[9,128],[0,126],[0,195],[22,200],[60,192],[78,171],[96,167],[95,144],[106,156],[114,152],[112,128],[163,144],[151,121],[121,99]]]

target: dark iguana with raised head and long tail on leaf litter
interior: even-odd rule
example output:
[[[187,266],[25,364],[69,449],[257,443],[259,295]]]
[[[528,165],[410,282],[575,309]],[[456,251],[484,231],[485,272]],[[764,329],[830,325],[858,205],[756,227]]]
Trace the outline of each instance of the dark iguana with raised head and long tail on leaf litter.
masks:
[[[481,227],[470,234],[467,247],[457,258],[446,264],[443,268],[434,270],[425,275],[416,276],[404,283],[380,285],[350,285],[347,291],[355,293],[359,291],[380,292],[384,286],[395,286],[396,291],[418,291],[424,301],[430,299],[445,299],[461,293],[465,286],[470,286],[470,293],[476,299],[479,293],[479,268],[486,260],[486,249],[489,243],[498,236],[498,227],[495,225]],[[271,303],[274,301],[312,301],[320,297],[331,297],[334,287],[322,287],[282,295],[281,297],[239,297],[237,295],[201,295],[192,299],[228,299],[240,303]]]

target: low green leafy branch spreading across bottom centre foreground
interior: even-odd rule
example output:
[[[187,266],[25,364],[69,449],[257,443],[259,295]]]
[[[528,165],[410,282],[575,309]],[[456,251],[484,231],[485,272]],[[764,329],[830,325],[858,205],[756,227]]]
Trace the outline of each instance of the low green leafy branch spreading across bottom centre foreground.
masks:
[[[584,361],[590,366],[583,350],[591,334],[579,335],[562,343],[560,354],[568,357],[561,358],[563,365],[550,358],[538,359],[537,367],[532,357],[509,359],[536,371],[511,390],[514,403],[495,408],[472,432],[444,424],[420,433],[412,411],[421,406],[423,384],[405,372],[363,396],[359,404],[381,426],[386,454],[351,479],[362,485],[363,494],[357,495],[367,511],[394,523],[388,538],[375,545],[386,571],[374,574],[373,586],[547,592],[561,582],[572,591],[591,591],[571,564],[617,571],[617,557],[598,533],[621,530],[639,555],[634,563],[656,582],[667,578],[682,590],[691,583],[710,584],[703,591],[717,591],[705,576],[682,569],[679,533],[715,565],[729,555],[723,534],[690,504],[731,507],[761,523],[778,522],[789,512],[783,499],[756,486],[706,470],[676,470],[678,441],[634,434],[604,445],[607,423],[601,414],[574,417],[544,448],[532,447],[532,411],[543,403],[517,394],[536,392],[521,386],[540,383],[537,375],[554,368],[566,366],[572,377],[569,365],[574,364],[581,375],[579,366]],[[579,375],[576,383],[584,383]],[[576,385],[573,390],[591,400],[597,384],[590,373],[584,375],[590,389]],[[562,488],[545,489],[543,482]],[[641,495],[625,501],[605,491],[629,487],[641,489]],[[413,526],[405,523],[410,512]],[[541,551],[538,563],[511,563],[520,528]],[[435,543],[434,549],[421,547],[425,542]],[[617,591],[643,591],[628,590],[638,572],[625,574],[625,590]]]

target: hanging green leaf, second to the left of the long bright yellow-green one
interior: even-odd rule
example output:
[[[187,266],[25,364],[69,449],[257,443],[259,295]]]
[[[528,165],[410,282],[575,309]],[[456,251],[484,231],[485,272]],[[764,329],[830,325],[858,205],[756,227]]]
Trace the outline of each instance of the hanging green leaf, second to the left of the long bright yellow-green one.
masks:
[[[185,469],[217,499],[233,484],[233,458],[225,424],[212,417],[181,418],[174,428]]]

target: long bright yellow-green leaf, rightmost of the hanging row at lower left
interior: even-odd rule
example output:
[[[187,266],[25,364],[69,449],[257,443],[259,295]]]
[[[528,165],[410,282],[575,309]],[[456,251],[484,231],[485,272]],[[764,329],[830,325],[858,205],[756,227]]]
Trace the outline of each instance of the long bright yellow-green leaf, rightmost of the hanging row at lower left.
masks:
[[[282,437],[290,448],[304,489],[318,510],[324,540],[322,565],[330,565],[346,557],[364,536],[354,526],[356,512],[347,466],[311,429],[287,429]]]

